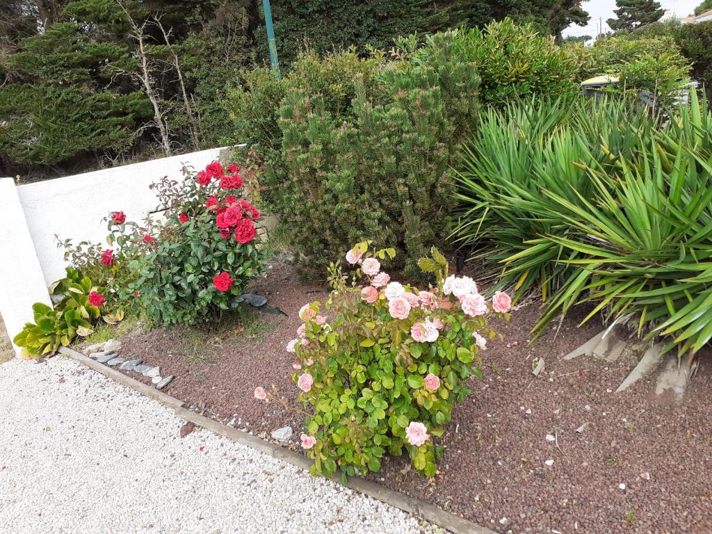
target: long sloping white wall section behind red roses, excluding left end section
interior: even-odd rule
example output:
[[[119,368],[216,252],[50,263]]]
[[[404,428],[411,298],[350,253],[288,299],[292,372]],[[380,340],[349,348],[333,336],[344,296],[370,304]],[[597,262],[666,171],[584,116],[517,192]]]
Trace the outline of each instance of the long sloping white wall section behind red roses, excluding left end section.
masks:
[[[140,222],[158,206],[149,189],[157,179],[181,179],[183,164],[195,169],[218,159],[220,148],[150,162],[123,165],[100,171],[21,185],[17,194],[27,219],[46,285],[62,278],[66,263],[57,248],[61,239],[105,243],[108,231],[101,219],[111,211],[123,211],[130,221]]]

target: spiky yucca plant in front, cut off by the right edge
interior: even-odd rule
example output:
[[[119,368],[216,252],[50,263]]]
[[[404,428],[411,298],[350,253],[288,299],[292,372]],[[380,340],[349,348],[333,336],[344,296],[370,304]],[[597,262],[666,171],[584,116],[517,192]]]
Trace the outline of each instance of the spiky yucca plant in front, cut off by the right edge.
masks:
[[[706,105],[706,104],[705,104]],[[578,256],[535,327],[572,305],[595,302],[584,319],[633,313],[639,331],[670,336],[664,352],[694,354],[712,338],[712,117],[696,98],[637,151],[609,168],[579,164],[595,184],[576,204],[545,191],[570,226],[552,244]]]

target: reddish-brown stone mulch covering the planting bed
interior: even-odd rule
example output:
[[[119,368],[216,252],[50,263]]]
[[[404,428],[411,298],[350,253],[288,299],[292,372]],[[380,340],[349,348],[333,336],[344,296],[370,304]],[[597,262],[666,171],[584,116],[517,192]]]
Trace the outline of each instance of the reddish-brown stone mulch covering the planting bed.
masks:
[[[206,330],[204,354],[190,357],[180,352],[182,330],[131,333],[122,337],[122,355],[175,375],[164,390],[196,409],[266,438],[290,425],[296,443],[303,419],[253,391],[272,386],[295,404],[285,346],[300,325],[299,308],[326,293],[283,264],[254,290],[286,315]],[[504,341],[483,352],[483,379],[473,379],[474,394],[445,427],[439,473],[423,478],[394,458],[375,479],[501,533],[712,533],[712,357],[699,357],[681,402],[657,396],[654,375],[615,394],[636,361],[562,360],[601,328],[595,320],[577,328],[586,311],[570,313],[534,344],[536,303],[513,311],[510,323],[493,321]],[[538,377],[535,358],[545,360]]]

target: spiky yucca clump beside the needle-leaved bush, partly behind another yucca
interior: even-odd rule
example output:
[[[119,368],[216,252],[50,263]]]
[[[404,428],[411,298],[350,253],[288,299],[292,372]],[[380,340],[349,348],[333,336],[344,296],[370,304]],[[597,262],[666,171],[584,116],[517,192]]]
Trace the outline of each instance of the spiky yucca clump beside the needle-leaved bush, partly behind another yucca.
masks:
[[[572,204],[589,197],[590,177],[572,162],[607,167],[617,159],[613,154],[633,150],[649,120],[629,108],[624,102],[543,99],[483,116],[464,148],[453,236],[499,279],[492,290],[510,288],[515,300],[536,291],[547,300],[576,271],[562,260],[580,253],[544,237],[565,236],[570,226],[543,192]]]

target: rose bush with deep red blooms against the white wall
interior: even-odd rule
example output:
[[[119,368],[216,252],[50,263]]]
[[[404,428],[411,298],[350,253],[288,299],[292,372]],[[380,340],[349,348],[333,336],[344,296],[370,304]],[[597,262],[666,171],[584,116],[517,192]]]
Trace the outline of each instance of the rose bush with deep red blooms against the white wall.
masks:
[[[196,323],[236,308],[246,283],[263,271],[256,223],[261,213],[244,198],[251,170],[211,162],[182,182],[164,177],[151,188],[165,221],[127,221],[122,211],[105,219],[108,248],[61,241],[65,258],[105,286],[105,316],[124,310],[152,323]]]

